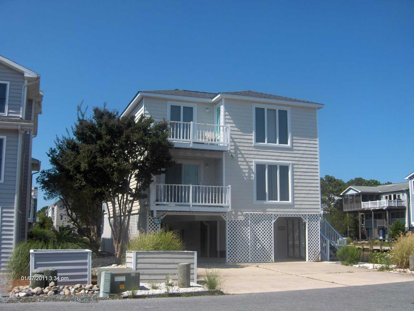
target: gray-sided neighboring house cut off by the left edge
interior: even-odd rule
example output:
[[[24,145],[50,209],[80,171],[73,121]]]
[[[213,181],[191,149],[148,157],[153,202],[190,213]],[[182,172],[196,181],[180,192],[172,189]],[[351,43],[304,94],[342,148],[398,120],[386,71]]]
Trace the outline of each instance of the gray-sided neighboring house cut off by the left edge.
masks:
[[[0,56],[0,271],[27,237],[31,173],[40,168],[31,157],[42,112],[39,88],[39,74]]]

